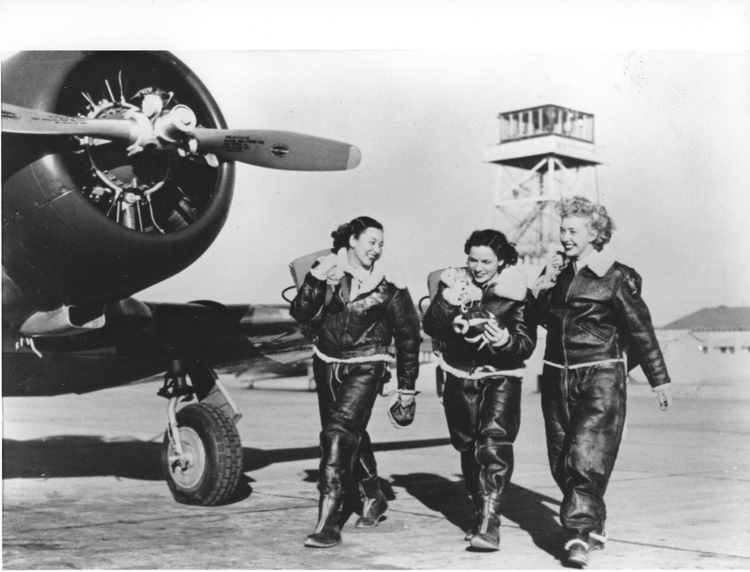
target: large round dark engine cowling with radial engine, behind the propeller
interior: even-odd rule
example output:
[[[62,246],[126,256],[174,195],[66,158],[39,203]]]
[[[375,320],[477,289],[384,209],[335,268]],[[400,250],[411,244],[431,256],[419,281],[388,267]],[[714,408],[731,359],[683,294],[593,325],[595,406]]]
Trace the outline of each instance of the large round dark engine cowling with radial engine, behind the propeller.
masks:
[[[5,103],[31,109],[119,119],[183,105],[197,125],[226,128],[198,77],[166,52],[19,53],[3,62],[2,82]],[[128,156],[121,143],[82,137],[2,137],[5,327],[39,310],[129,297],[193,263],[226,221],[231,161]]]

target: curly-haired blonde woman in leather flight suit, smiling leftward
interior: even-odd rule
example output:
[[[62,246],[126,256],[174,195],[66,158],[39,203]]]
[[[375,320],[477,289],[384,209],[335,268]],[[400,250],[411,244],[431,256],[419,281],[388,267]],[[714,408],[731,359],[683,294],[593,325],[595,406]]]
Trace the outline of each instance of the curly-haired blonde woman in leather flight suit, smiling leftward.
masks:
[[[607,209],[583,197],[562,200],[564,254],[547,262],[534,291],[535,320],[547,328],[541,408],[550,469],[563,494],[560,522],[568,561],[583,566],[604,547],[604,491],[625,423],[627,369],[640,364],[661,409],[670,378],[640,276],[606,251]]]

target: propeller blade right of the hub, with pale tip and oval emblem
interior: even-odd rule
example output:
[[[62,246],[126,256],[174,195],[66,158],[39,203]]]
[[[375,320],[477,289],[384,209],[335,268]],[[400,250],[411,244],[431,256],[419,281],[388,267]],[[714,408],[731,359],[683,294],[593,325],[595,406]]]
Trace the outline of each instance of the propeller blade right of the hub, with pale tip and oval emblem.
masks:
[[[291,131],[199,128],[193,135],[201,153],[272,169],[343,171],[362,159],[349,143]]]

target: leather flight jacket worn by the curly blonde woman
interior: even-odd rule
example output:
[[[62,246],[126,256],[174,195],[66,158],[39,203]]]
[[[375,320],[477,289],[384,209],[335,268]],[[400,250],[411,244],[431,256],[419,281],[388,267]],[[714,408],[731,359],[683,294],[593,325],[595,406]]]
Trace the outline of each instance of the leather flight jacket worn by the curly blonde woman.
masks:
[[[547,329],[544,360],[580,366],[627,354],[628,370],[640,365],[652,387],[670,383],[640,286],[640,275],[625,264],[575,273],[568,262],[532,303],[535,321]]]

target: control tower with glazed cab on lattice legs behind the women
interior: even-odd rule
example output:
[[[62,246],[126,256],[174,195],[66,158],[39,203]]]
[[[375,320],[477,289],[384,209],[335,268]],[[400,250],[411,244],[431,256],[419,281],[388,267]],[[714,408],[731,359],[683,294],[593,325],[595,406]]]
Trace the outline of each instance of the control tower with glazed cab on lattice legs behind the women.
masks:
[[[484,161],[499,166],[495,227],[516,244],[519,263],[538,266],[559,244],[555,203],[573,195],[598,202],[594,116],[542,105],[498,118],[500,142],[484,148]]]

